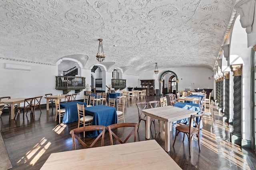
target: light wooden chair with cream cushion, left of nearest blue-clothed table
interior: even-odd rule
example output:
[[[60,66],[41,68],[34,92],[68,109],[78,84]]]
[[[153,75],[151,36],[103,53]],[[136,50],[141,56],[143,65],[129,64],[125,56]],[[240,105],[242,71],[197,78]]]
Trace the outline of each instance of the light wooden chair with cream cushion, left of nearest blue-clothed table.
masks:
[[[84,114],[84,105],[83,104],[76,104],[77,105],[77,113],[78,113],[78,127],[80,125],[92,125],[93,116],[85,115]],[[84,132],[85,137],[85,132]]]

